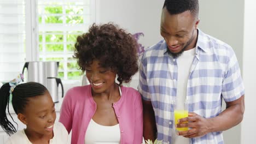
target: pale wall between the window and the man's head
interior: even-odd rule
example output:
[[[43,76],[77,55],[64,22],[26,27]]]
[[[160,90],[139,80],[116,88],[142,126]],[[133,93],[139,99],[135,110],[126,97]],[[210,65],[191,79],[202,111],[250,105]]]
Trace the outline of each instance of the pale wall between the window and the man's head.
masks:
[[[130,33],[143,32],[146,47],[161,40],[160,15],[164,0],[96,0],[97,23],[115,22]]]

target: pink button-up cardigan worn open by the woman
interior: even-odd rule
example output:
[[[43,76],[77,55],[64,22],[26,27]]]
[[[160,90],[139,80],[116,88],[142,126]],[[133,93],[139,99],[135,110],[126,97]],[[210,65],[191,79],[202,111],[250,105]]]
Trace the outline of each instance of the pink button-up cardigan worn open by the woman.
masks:
[[[121,98],[113,104],[118,118],[121,144],[142,143],[143,113],[141,95],[133,88],[121,87]],[[71,143],[84,144],[88,124],[96,111],[91,95],[91,85],[69,89],[61,106],[60,122],[68,133],[72,130]]]

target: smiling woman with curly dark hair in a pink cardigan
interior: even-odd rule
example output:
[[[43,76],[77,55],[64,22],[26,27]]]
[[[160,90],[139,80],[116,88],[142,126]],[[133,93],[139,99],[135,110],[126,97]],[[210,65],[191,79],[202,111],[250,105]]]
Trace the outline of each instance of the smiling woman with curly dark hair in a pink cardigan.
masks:
[[[72,130],[71,143],[142,143],[141,96],[122,86],[138,71],[137,48],[112,23],[94,24],[77,37],[74,57],[90,85],[69,89],[62,103],[60,122]]]

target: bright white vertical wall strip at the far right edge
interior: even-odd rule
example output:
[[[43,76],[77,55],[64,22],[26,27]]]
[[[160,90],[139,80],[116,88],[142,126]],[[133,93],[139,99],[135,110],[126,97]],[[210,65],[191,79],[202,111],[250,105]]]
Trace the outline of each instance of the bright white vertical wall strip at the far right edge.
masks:
[[[245,115],[242,121],[241,143],[255,143],[256,119],[256,16],[255,0],[245,1],[245,33],[243,47],[243,80],[246,87]]]

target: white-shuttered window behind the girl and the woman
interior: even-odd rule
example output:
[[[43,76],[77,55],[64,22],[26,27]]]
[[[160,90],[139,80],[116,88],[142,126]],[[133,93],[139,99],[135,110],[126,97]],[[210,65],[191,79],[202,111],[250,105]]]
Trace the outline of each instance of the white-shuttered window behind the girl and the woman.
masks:
[[[80,80],[74,43],[95,22],[94,10],[93,0],[1,0],[0,81],[26,61],[59,61],[62,80]]]

